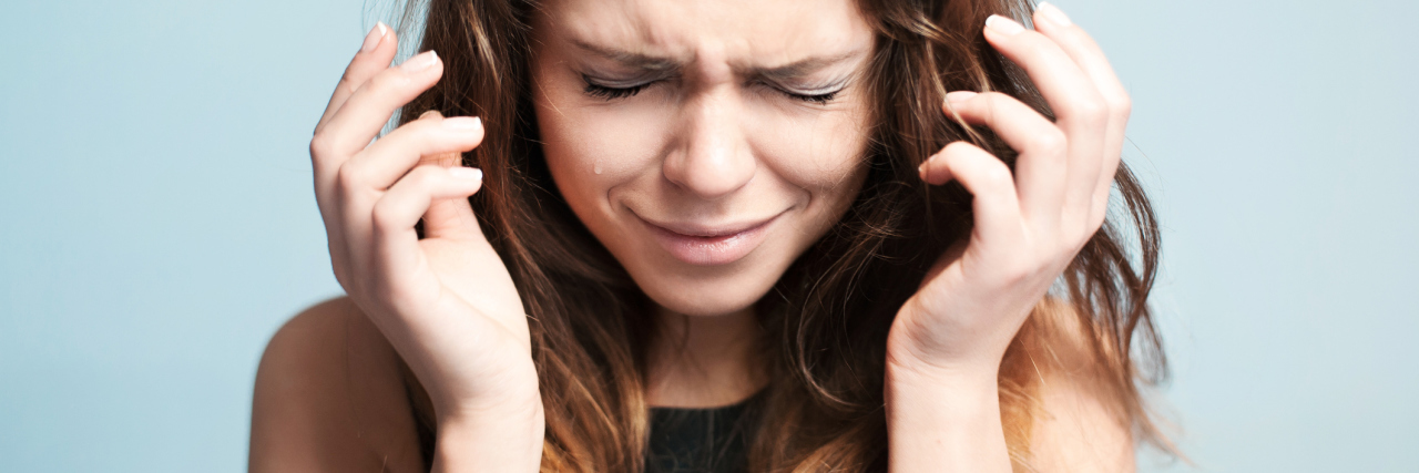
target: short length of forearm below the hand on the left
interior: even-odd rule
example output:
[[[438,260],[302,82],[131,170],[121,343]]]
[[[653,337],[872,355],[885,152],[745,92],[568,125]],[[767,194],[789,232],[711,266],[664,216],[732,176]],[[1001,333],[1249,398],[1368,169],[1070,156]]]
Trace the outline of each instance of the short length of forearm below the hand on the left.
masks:
[[[542,463],[543,429],[541,401],[450,416],[438,422],[433,472],[536,472]]]

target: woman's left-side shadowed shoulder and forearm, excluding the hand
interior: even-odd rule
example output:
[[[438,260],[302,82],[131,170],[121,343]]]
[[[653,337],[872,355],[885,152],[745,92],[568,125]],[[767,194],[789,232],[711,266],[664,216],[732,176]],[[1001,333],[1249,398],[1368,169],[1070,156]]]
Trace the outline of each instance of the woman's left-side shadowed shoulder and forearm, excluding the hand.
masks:
[[[250,470],[429,472],[399,354],[349,299],[302,312],[271,338],[251,404]],[[491,405],[438,425],[434,472],[497,472],[542,445],[541,404]],[[535,470],[535,466],[532,467]]]

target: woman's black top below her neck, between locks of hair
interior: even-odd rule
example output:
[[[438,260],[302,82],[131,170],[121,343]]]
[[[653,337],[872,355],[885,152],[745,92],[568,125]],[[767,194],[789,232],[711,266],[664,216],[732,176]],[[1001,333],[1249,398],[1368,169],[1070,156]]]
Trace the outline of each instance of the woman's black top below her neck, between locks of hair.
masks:
[[[650,408],[646,473],[748,472],[748,438],[759,419],[763,392],[722,408]],[[434,432],[414,422],[424,465],[433,466]]]

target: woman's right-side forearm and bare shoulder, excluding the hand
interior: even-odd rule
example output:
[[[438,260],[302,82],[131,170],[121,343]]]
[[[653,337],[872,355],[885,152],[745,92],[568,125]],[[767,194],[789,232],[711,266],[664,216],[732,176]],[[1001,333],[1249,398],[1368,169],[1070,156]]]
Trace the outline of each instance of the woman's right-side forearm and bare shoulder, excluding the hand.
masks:
[[[1032,375],[1039,377],[1029,467],[1134,472],[1131,422],[1078,319],[1067,310],[1037,310],[1033,317],[1047,319],[1037,324],[1044,327],[1047,347],[1026,354],[1030,368],[1037,370]],[[993,374],[951,375],[897,367],[887,380],[888,449],[895,472],[1010,469]]]

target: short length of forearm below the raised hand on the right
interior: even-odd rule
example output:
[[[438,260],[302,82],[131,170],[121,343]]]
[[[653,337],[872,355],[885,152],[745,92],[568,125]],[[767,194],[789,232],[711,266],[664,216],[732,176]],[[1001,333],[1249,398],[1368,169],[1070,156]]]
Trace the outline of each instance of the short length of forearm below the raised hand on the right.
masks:
[[[893,473],[1010,472],[996,374],[887,367]]]

